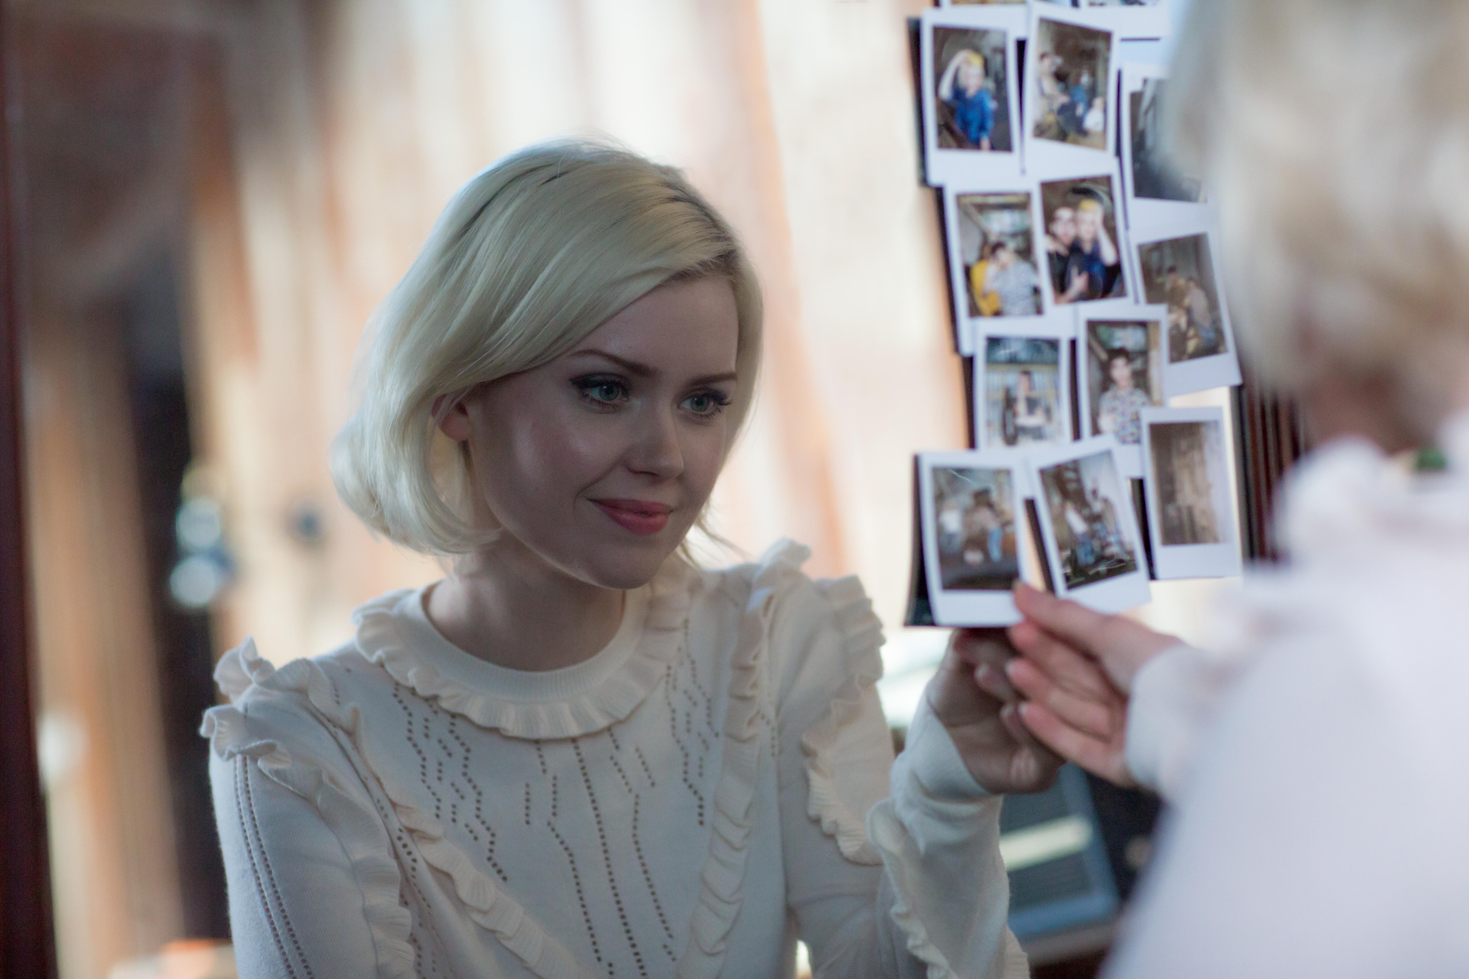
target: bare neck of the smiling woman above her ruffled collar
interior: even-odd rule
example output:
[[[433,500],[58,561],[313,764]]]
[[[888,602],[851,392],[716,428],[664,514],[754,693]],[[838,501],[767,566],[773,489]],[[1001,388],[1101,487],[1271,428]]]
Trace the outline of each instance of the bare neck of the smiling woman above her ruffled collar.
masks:
[[[607,646],[624,593],[576,578],[508,536],[461,558],[425,612],[457,647],[507,669],[574,666]]]

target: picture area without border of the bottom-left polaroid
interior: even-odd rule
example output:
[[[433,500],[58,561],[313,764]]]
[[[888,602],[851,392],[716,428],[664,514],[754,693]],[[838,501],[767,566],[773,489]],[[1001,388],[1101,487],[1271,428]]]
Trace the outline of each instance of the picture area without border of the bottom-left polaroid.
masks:
[[[933,470],[939,571],[949,592],[1008,592],[1019,575],[1009,470]]]

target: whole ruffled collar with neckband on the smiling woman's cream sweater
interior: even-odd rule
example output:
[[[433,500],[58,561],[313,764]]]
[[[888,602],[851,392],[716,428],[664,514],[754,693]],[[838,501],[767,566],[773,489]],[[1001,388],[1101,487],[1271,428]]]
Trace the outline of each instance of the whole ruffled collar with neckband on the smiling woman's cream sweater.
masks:
[[[517,738],[570,738],[630,715],[683,649],[701,577],[677,556],[627,592],[613,640],[591,659],[544,672],[507,669],[450,643],[423,611],[425,589],[398,590],[353,614],[357,647],[422,697]]]

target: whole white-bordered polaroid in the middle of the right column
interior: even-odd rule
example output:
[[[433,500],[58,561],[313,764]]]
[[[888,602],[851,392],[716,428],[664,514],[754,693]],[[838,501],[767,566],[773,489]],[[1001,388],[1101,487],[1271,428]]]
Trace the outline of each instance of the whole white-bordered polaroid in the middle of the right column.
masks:
[[[1133,248],[1138,292],[1168,307],[1168,395],[1238,385],[1238,348],[1209,222],[1137,230]]]

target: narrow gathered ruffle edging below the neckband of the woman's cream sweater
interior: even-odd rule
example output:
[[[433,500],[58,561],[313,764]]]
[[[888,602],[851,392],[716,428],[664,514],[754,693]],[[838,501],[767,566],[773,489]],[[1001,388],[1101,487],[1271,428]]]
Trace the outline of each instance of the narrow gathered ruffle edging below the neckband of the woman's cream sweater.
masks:
[[[403,592],[385,594],[353,614],[357,647],[372,663],[420,697],[438,700],[482,728],[514,738],[573,738],[626,719],[679,656],[683,622],[701,578],[682,559],[670,559],[651,583],[643,634],[627,662],[604,683],[564,700],[516,700],[466,685],[425,662],[404,641],[395,606]]]

